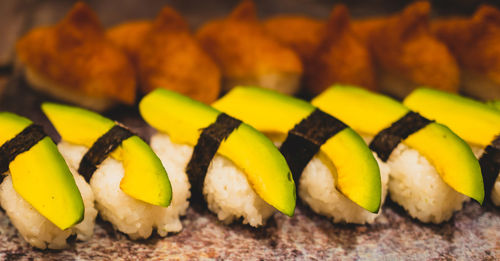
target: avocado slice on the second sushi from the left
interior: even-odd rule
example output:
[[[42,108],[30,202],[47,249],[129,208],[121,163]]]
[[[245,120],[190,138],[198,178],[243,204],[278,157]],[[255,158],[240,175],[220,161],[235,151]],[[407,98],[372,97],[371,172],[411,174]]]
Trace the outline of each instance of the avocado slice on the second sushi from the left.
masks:
[[[89,148],[116,124],[95,112],[73,106],[43,103],[42,110],[63,140]],[[141,138],[131,136],[110,155],[123,162],[125,173],[120,182],[123,192],[152,205],[170,205],[172,188],[167,172]]]

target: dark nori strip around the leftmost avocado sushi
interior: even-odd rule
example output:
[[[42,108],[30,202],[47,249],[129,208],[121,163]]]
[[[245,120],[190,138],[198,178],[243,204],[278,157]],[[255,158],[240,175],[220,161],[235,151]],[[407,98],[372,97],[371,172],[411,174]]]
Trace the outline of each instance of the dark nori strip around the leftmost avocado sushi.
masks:
[[[17,155],[28,151],[47,134],[39,125],[31,124],[0,147],[0,174],[9,170],[9,164]],[[2,178],[3,179],[3,178]]]

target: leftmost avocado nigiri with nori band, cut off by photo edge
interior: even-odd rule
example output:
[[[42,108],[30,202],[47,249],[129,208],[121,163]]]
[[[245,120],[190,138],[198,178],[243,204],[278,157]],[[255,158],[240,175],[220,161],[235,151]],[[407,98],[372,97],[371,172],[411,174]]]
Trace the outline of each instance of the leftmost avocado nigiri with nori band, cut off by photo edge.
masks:
[[[8,112],[0,125],[0,205],[12,224],[40,249],[64,248],[71,235],[88,240],[97,215],[90,187],[42,127]]]

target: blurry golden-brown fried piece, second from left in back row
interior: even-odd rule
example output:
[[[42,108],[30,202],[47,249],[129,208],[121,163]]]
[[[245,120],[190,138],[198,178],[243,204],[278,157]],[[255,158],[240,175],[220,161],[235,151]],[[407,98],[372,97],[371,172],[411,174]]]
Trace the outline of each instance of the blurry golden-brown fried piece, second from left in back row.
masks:
[[[219,96],[219,68],[172,8],[163,8],[154,21],[111,28],[108,37],[134,62],[143,93],[161,87],[205,103]]]

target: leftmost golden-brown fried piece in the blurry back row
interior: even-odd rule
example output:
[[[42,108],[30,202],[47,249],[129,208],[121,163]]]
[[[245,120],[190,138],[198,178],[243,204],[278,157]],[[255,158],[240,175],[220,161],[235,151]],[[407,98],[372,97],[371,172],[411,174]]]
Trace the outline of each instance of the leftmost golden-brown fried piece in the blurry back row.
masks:
[[[55,26],[30,31],[16,51],[35,89],[95,110],[134,103],[133,66],[84,3]]]

